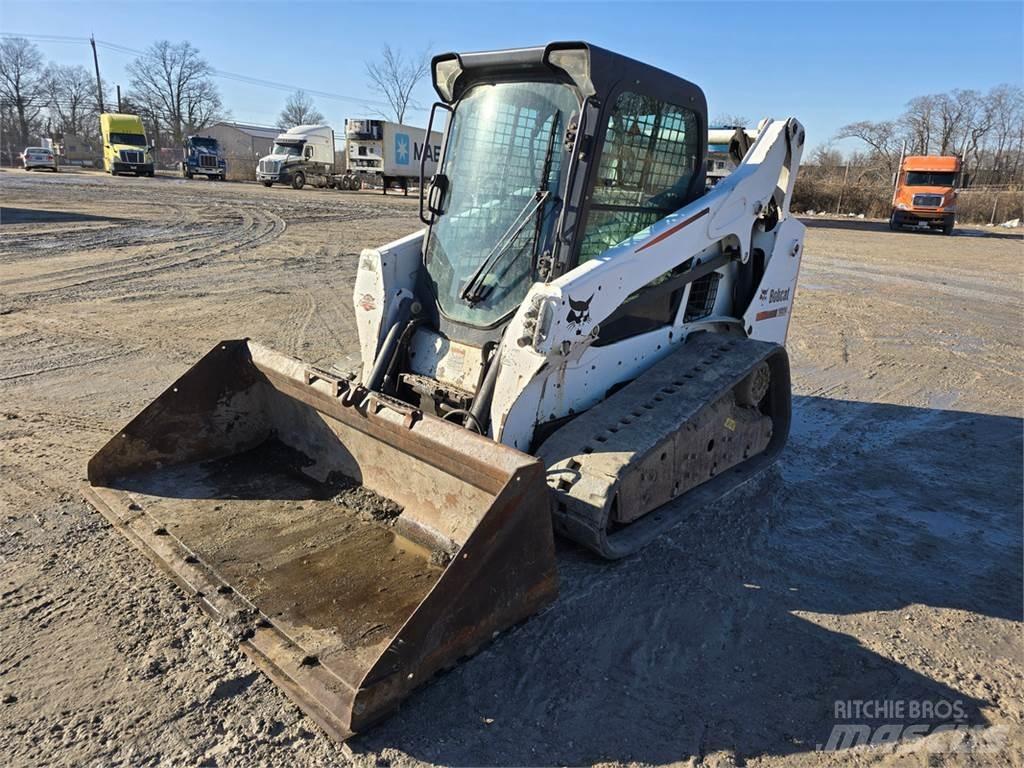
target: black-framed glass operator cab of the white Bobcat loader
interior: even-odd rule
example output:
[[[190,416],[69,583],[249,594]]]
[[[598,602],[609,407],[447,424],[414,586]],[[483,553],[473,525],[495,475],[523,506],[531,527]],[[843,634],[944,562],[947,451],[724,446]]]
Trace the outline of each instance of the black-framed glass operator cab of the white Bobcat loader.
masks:
[[[534,283],[705,193],[708,120],[693,83],[587,43],[445,53],[431,70],[440,100],[428,135],[438,113],[447,119],[437,173],[420,184],[420,314],[400,378],[420,395],[407,399],[426,404],[430,392],[440,413],[473,399]],[[609,334],[664,324],[678,299],[627,302]],[[482,360],[455,381],[438,359],[459,345]]]

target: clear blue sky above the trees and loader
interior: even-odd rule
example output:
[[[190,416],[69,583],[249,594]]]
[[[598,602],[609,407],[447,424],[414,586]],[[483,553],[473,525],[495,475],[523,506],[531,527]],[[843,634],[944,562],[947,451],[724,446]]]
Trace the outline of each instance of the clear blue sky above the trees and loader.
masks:
[[[315,98],[328,120],[366,114],[362,61],[406,51],[481,50],[583,39],[698,83],[714,119],[793,115],[812,145],[856,120],[895,117],[911,97],[1024,80],[1024,3],[736,2],[400,4],[0,0],[0,31],[88,37],[141,49],[188,40],[223,72],[351,96]],[[91,67],[87,44],[37,41]],[[104,79],[127,86],[131,53],[100,49]],[[218,80],[234,119],[273,123],[287,92]],[[429,85],[417,96],[429,105]],[[425,113],[407,122],[423,124]]]

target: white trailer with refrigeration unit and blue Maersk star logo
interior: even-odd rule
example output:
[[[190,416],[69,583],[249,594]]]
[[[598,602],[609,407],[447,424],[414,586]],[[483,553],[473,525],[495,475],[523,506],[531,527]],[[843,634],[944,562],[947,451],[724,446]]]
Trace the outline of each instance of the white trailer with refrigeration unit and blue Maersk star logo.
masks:
[[[348,170],[360,181],[388,185],[397,183],[408,194],[410,179],[419,182],[420,159],[426,156],[425,177],[437,169],[441,134],[431,131],[425,139],[422,128],[386,120],[345,120],[345,152]]]

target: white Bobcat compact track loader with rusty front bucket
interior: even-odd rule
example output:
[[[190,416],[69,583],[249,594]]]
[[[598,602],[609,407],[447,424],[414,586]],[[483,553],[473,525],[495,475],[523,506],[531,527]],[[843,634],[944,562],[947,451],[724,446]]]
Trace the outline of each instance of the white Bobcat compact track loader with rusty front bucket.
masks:
[[[432,62],[425,228],[365,250],[360,365],[224,341],[89,463],[90,502],[329,733],[367,728],[790,426],[796,120],[584,43]],[[422,173],[422,172],[421,172]]]

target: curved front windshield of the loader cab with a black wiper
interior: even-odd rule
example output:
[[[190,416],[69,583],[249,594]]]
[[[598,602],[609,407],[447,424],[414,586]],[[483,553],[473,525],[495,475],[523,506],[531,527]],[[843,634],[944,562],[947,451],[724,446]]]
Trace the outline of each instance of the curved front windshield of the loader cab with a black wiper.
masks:
[[[561,208],[565,126],[579,109],[558,83],[477,85],[459,101],[424,256],[450,318],[488,327],[522,302]]]

